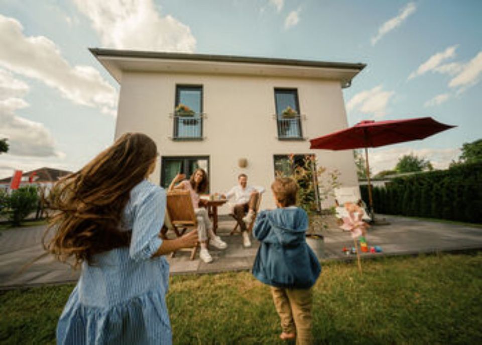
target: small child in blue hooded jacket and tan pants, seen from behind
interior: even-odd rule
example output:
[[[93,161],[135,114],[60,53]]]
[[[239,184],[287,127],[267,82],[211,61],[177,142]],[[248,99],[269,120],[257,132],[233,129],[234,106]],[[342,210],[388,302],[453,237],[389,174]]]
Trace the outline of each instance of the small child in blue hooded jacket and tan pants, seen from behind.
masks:
[[[311,344],[312,291],[321,266],[306,244],[308,215],[295,206],[298,185],[293,179],[278,178],[271,185],[277,209],[262,211],[253,228],[261,242],[253,275],[271,286],[273,301],[281,318],[281,339]]]

